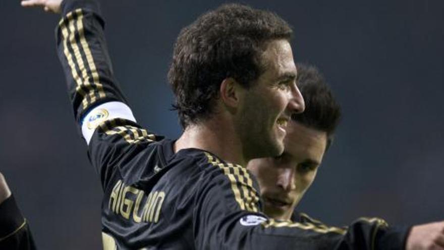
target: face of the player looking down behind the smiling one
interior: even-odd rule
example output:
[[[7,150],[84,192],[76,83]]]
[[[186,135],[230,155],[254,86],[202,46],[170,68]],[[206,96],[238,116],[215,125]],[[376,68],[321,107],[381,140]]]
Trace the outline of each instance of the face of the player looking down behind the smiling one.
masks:
[[[290,220],[296,205],[313,183],[326,143],[325,132],[290,122],[281,156],[253,159],[248,163],[247,168],[259,182],[266,215]]]

